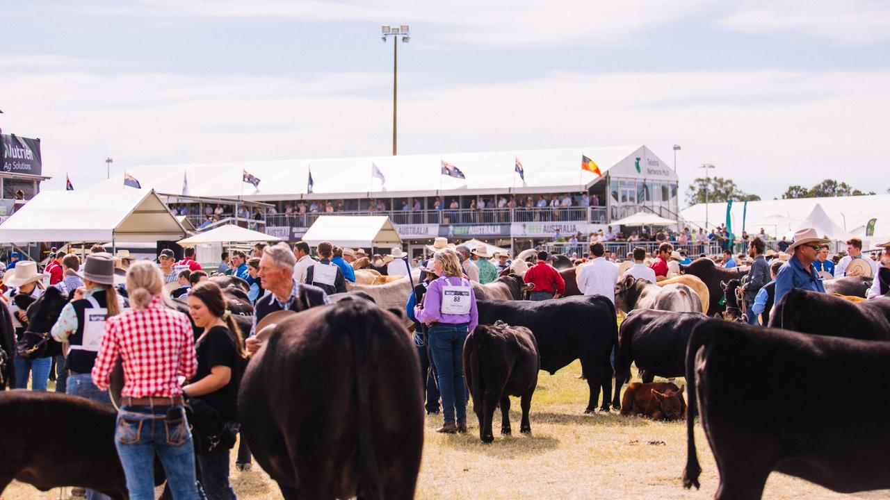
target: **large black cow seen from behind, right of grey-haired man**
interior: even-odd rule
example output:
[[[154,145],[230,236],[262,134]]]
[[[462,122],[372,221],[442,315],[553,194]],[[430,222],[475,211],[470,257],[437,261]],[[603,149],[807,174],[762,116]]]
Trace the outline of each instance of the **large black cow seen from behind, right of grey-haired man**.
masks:
[[[244,374],[239,416],[285,498],[414,497],[424,397],[410,339],[400,318],[358,300],[275,327]]]

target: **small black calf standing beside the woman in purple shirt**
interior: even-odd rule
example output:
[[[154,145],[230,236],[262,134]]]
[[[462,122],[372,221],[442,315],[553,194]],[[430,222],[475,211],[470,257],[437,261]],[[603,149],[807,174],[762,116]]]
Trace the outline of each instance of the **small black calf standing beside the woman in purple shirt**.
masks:
[[[503,321],[480,325],[464,343],[464,374],[473,396],[473,411],[479,417],[479,438],[495,440],[491,420],[498,403],[501,434],[510,433],[510,396],[522,398],[521,432],[530,432],[531,395],[538,385],[538,343],[525,327],[510,327]]]

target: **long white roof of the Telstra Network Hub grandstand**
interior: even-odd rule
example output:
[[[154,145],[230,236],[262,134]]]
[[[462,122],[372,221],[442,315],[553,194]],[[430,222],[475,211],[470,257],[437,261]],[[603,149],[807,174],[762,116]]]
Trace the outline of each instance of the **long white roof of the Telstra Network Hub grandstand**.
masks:
[[[160,193],[182,192],[182,181],[187,177],[189,192],[193,196],[253,201],[421,197],[436,196],[440,191],[461,195],[511,190],[518,194],[542,190],[578,191],[601,181],[603,178],[595,173],[581,170],[582,155],[593,159],[603,176],[611,172],[622,177],[648,176],[651,180],[677,180],[676,173],[643,145],[141,165],[128,167],[127,173],[138,179],[143,187],[151,187]],[[522,163],[524,181],[514,173],[517,159]],[[442,161],[457,166],[466,178],[442,175]],[[635,163],[639,166],[635,166]],[[384,174],[385,184],[371,176],[372,165],[376,165]],[[310,167],[312,193],[307,192]],[[637,173],[643,167],[643,173]],[[258,189],[243,181],[243,171],[260,179]],[[406,172],[411,174],[405,175]],[[101,181],[97,187],[120,190],[123,182],[123,173],[120,173]]]

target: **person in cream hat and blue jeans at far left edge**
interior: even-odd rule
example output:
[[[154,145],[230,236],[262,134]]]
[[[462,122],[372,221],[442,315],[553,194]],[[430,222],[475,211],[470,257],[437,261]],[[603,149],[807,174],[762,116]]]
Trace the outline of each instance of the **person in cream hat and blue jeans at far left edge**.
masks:
[[[14,297],[16,295],[29,295],[36,299],[44,294],[43,279],[48,275],[37,272],[37,263],[34,261],[19,261],[14,268],[4,274],[4,283],[10,286],[6,292],[6,303],[12,313],[12,327],[18,337],[28,327],[28,316],[25,310],[19,309]],[[49,379],[50,368],[53,367],[53,358],[20,358],[16,353],[13,357],[15,365],[15,389],[28,388],[28,376],[32,378],[31,389],[34,391],[46,391],[46,382]]]

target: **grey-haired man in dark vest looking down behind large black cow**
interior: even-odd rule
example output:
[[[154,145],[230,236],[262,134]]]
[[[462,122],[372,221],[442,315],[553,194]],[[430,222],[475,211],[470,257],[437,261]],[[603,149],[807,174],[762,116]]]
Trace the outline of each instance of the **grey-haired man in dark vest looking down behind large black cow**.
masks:
[[[247,351],[251,353],[260,348],[256,339],[256,324],[266,315],[276,310],[293,310],[299,312],[317,305],[330,303],[328,294],[318,286],[306,285],[294,279],[296,257],[286,243],[278,243],[263,248],[260,258],[260,272],[266,294],[254,304],[254,325],[250,328],[251,338],[247,339]]]

